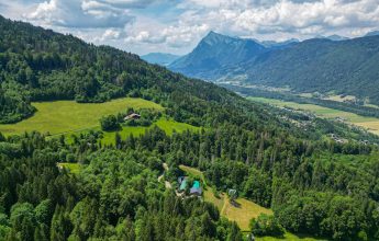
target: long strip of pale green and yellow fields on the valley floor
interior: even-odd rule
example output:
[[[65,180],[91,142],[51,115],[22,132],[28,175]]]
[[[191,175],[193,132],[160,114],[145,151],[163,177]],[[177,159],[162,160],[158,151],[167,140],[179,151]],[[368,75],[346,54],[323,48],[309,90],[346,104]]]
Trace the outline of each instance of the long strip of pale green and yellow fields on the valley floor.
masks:
[[[252,101],[263,102],[267,104],[272,104],[280,107],[291,107],[297,110],[304,110],[312,112],[321,117],[325,118],[336,118],[342,117],[347,120],[347,123],[367,128],[369,131],[379,135],[379,118],[360,116],[349,112],[343,112],[334,108],[323,107],[314,104],[299,104],[296,102],[286,102],[276,99],[266,97],[248,97]]]

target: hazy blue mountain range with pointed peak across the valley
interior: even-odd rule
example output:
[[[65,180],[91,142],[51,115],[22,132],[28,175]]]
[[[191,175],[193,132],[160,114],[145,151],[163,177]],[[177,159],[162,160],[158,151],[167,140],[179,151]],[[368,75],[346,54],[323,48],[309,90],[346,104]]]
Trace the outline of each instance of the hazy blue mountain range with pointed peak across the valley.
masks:
[[[379,36],[375,34],[352,39],[313,38],[277,47],[211,32],[168,68],[209,81],[350,94],[379,104]]]

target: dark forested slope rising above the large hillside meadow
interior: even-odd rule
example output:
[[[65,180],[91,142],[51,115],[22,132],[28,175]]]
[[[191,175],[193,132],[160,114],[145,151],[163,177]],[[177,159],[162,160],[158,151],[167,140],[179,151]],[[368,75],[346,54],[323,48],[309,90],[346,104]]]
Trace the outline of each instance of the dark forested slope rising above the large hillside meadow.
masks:
[[[180,120],[204,124],[212,103],[233,104],[236,94],[191,80],[138,56],[109,46],[94,46],[0,16],[0,123],[33,115],[32,101],[105,102],[121,96],[143,97],[170,106]],[[180,103],[192,103],[179,107]]]

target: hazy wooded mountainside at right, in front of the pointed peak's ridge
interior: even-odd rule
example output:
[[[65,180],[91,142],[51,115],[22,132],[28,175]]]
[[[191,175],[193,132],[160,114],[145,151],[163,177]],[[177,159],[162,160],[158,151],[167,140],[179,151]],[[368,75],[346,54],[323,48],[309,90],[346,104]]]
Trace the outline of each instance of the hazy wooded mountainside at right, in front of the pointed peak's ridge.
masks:
[[[247,82],[299,92],[334,91],[379,103],[379,36],[305,41],[264,54],[243,69]]]

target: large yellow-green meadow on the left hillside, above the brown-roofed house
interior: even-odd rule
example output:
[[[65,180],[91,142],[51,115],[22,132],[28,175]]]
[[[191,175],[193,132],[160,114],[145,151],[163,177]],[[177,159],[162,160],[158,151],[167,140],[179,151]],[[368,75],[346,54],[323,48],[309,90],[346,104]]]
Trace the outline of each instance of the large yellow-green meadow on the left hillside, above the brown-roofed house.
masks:
[[[32,130],[51,135],[66,134],[98,127],[102,116],[125,112],[129,107],[164,110],[161,105],[154,102],[132,97],[105,103],[38,102],[33,103],[33,106],[37,108],[37,112],[32,117],[16,124],[0,125],[0,131],[4,135]]]

